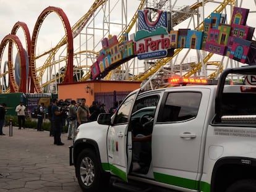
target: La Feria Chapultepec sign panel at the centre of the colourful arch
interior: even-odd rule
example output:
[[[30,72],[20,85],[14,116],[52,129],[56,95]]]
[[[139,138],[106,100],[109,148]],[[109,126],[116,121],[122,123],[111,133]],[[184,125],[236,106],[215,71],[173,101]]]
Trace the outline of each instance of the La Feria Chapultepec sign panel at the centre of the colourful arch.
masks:
[[[134,54],[138,59],[156,59],[173,56],[170,48],[171,14],[158,10],[158,17],[151,20],[149,9],[138,11],[138,31],[131,35]]]

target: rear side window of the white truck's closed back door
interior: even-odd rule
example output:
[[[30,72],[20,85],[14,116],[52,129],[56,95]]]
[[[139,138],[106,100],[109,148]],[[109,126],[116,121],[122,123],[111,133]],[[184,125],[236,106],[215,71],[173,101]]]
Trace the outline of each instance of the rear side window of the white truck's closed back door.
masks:
[[[202,93],[169,93],[163,109],[158,115],[158,122],[179,122],[194,119],[197,116]]]

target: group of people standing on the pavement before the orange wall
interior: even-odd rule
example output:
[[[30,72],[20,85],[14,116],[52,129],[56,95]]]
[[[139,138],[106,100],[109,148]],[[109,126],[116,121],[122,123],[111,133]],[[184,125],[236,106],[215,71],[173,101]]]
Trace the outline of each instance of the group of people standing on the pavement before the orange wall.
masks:
[[[114,112],[114,109],[116,109],[117,104],[115,104],[114,107],[111,107],[109,110],[111,111],[111,114]],[[0,135],[5,135],[2,133],[2,127],[5,123],[5,107],[6,104],[0,104]],[[18,117],[19,129],[25,129],[25,111],[26,107],[23,105],[23,102],[20,101],[19,105],[15,108],[15,112],[17,112]],[[42,123],[45,117],[45,104],[43,102],[41,102],[40,106],[38,106],[37,111],[37,131],[43,131]],[[63,119],[65,121],[67,120],[68,122],[67,139],[72,140],[75,138],[77,127],[79,125],[82,123],[95,121],[97,120],[99,114],[105,112],[105,104],[99,105],[97,101],[93,101],[92,105],[89,107],[86,104],[85,98],[81,99],[80,104],[77,104],[75,100],[72,100],[69,106],[62,110],[62,108],[58,106],[58,99],[54,98],[53,102],[48,106],[48,119],[51,123],[49,135],[54,136],[54,144],[63,145],[64,143],[61,141]]]

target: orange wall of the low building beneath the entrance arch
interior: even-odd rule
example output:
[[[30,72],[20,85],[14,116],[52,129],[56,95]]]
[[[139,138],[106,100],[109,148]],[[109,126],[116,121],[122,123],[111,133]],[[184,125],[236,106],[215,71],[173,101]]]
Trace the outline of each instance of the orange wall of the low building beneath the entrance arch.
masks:
[[[111,92],[111,91],[133,91],[140,88],[139,81],[82,81],[75,83],[62,83],[58,84],[58,99],[77,99],[85,98],[86,104],[90,106],[94,99],[95,93]],[[85,87],[92,88],[87,93]]]

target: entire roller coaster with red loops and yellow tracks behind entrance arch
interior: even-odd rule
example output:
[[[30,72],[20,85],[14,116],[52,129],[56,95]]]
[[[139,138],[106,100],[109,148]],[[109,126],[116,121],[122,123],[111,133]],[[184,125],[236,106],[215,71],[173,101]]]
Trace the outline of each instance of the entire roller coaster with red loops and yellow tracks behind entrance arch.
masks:
[[[181,3],[181,2],[179,2]],[[255,2],[253,6],[255,6]],[[1,59],[8,45],[8,61],[1,63],[0,93],[56,93],[58,83],[74,80],[89,81],[91,66],[99,56],[101,40],[109,35],[117,35],[123,41],[123,34],[137,30],[138,10],[150,9],[151,17],[157,16],[158,10],[171,12],[172,28],[192,28],[203,31],[205,12],[232,14],[233,7],[247,7],[242,0],[197,1],[190,6],[178,4],[177,0],[95,0],[86,14],[73,27],[70,26],[64,10],[47,7],[36,20],[33,33],[25,22],[14,24],[12,31],[6,35],[0,45]],[[131,9],[130,7],[133,7]],[[212,7],[216,7],[212,9]],[[250,9],[251,14],[254,10]],[[57,14],[62,22],[65,35],[53,48],[42,54],[36,54],[38,34],[44,20],[49,14]],[[116,19],[116,16],[120,17]],[[250,15],[249,15],[250,17]],[[229,20],[231,18],[228,18]],[[98,20],[102,20],[99,23]],[[118,21],[117,21],[118,20]],[[185,26],[185,27],[184,27]],[[17,31],[22,28],[26,45],[23,48]],[[116,34],[117,33],[117,34]],[[17,49],[18,66],[13,62],[13,49]],[[56,59],[58,58],[58,59]],[[190,61],[189,61],[190,60]],[[15,61],[17,62],[17,61]],[[40,67],[36,63],[40,63]],[[225,65],[224,65],[225,64]],[[173,75],[195,78],[218,79],[225,67],[240,67],[242,64],[225,56],[216,56],[213,52],[177,48],[173,56],[162,59],[139,61],[136,57],[112,69],[104,80],[141,81],[144,88],[154,89],[168,86],[166,78]],[[28,67],[29,66],[29,67]],[[17,70],[17,69],[20,70]],[[18,80],[17,80],[18,79]]]

